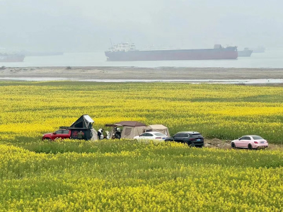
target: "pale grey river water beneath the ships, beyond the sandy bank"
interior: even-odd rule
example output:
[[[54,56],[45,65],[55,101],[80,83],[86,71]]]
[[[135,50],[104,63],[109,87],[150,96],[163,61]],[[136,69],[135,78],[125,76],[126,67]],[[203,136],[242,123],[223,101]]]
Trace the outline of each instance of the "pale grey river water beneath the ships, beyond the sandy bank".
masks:
[[[233,60],[188,61],[106,61],[104,52],[64,53],[50,57],[25,57],[23,62],[1,63],[0,66],[137,66],[137,67],[224,67],[224,68],[283,68],[283,49],[253,53],[251,57]]]

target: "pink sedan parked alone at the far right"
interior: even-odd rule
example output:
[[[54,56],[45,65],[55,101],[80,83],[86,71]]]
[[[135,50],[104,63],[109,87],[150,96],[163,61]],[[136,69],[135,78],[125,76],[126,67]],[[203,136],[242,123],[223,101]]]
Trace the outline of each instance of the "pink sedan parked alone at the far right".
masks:
[[[267,148],[268,142],[260,136],[243,136],[240,139],[231,141],[232,148]]]

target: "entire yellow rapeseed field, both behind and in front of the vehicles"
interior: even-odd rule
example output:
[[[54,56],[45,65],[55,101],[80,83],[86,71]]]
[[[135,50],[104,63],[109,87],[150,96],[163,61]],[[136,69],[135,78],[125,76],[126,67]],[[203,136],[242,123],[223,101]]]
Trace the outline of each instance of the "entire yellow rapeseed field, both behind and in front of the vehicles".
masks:
[[[283,153],[180,143],[41,141],[89,114],[171,134],[282,143],[283,88],[184,83],[0,83],[0,211],[282,211]]]

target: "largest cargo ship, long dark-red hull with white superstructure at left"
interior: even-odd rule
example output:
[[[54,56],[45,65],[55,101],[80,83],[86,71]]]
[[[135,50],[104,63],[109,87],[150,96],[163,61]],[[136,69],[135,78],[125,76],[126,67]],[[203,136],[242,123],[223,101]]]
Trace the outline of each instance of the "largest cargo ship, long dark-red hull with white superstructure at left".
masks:
[[[133,43],[122,42],[105,52],[107,61],[158,61],[237,59],[237,47],[214,45],[213,49],[173,49],[139,51]]]

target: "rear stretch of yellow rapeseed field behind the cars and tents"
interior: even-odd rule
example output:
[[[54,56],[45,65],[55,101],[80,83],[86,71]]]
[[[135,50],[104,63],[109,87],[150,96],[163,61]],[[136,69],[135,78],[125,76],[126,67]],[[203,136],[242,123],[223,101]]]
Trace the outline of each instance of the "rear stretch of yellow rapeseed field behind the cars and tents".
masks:
[[[171,133],[238,139],[283,138],[283,88],[181,83],[1,83],[0,139],[39,139],[89,114],[96,129],[136,120],[164,124]],[[21,137],[21,138],[20,138]]]

